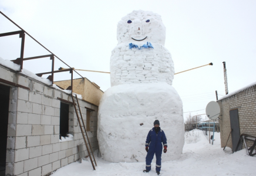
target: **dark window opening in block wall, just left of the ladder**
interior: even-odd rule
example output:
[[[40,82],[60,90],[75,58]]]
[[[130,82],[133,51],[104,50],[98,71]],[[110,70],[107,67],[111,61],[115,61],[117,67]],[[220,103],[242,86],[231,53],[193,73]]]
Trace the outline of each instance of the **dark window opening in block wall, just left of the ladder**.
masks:
[[[69,133],[69,104],[60,102],[59,138]]]

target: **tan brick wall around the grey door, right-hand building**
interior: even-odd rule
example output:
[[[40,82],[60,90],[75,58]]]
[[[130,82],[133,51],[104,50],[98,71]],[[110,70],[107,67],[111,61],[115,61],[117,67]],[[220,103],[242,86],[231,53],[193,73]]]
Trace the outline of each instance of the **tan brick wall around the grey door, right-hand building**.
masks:
[[[238,119],[240,123],[240,134],[245,133],[256,136],[256,85],[248,87],[248,89],[221,99],[218,102],[221,109],[220,131],[221,131],[221,147],[224,147],[228,135],[231,131],[230,126],[230,110],[238,109]],[[253,144],[252,141],[246,141],[248,147]],[[232,138],[228,140],[227,146],[232,148]],[[244,145],[243,145],[244,148]]]

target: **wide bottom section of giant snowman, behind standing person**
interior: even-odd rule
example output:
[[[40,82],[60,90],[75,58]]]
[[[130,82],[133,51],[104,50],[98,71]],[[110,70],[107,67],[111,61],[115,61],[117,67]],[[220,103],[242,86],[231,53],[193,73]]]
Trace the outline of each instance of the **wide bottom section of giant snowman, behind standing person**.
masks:
[[[184,145],[182,101],[169,84],[113,86],[103,94],[98,116],[98,141],[105,160],[145,161],[147,133],[156,119],[166,134],[169,150],[162,161],[180,157]]]

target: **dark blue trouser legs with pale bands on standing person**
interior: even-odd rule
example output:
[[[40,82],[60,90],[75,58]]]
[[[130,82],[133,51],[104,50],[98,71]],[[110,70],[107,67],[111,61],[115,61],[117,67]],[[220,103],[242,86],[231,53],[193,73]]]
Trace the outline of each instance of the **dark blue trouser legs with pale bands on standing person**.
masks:
[[[148,151],[147,156],[146,156],[146,170],[150,171],[151,170],[151,162],[154,158],[154,154],[156,154],[156,171],[160,172],[161,170],[161,155],[162,155],[162,150],[157,150],[157,151]]]

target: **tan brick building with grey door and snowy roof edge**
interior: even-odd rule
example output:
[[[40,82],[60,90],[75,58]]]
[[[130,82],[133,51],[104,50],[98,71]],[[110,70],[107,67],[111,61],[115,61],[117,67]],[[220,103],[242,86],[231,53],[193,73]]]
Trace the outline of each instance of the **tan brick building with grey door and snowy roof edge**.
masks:
[[[217,103],[221,110],[221,147],[227,143],[230,133],[227,146],[233,151],[241,134],[256,136],[256,82],[221,97]],[[253,141],[246,140],[246,143],[251,147]]]

